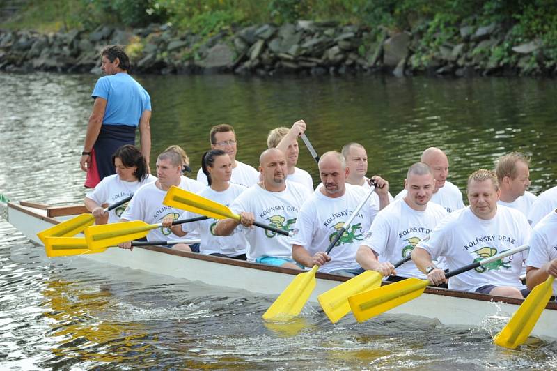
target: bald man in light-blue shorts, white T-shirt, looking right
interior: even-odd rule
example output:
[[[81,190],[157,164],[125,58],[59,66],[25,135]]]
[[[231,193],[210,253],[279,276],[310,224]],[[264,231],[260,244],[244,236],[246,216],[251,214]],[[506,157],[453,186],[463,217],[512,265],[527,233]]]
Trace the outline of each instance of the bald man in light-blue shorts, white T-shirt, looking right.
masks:
[[[240,214],[240,221],[224,219],[217,222],[215,234],[230,236],[242,233],[236,227],[242,224],[249,248],[246,257],[249,262],[257,262],[286,268],[300,267],[292,260],[292,247],[288,238],[253,228],[253,222],[265,222],[273,227],[292,231],[301,204],[309,197],[309,190],[295,182],[286,181],[288,174],[284,153],[278,149],[267,149],[259,158],[260,182],[242,192],[230,204],[233,213]]]

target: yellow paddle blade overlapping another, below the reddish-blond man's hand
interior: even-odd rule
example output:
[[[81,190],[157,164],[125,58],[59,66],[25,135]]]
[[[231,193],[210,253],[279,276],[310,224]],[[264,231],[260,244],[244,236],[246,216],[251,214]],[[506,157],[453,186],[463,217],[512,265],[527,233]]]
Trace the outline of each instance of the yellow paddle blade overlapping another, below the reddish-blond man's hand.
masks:
[[[400,282],[350,296],[348,303],[350,303],[354,317],[359,322],[363,322],[417,298],[423,293],[427,285],[430,285],[429,280],[407,278]]]

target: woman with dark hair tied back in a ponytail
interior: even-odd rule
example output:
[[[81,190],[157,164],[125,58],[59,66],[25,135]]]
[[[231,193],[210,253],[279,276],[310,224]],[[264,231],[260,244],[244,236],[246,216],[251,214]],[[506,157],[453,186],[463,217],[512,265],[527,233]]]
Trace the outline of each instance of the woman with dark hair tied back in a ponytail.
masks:
[[[203,173],[207,176],[209,185],[198,193],[200,196],[228,206],[238,195],[246,190],[243,185],[230,183],[232,161],[230,156],[220,149],[212,149],[203,153],[201,169],[203,169]],[[180,216],[180,219],[195,218],[196,216],[198,215],[186,211]],[[172,220],[169,220],[169,222],[172,222]],[[172,226],[172,232],[180,237],[191,234],[194,231],[199,232],[201,236],[199,252],[201,254],[246,260],[248,241],[246,241],[245,234],[242,231],[236,231],[227,237],[215,236],[215,225],[217,225],[217,220],[206,219],[174,225]]]

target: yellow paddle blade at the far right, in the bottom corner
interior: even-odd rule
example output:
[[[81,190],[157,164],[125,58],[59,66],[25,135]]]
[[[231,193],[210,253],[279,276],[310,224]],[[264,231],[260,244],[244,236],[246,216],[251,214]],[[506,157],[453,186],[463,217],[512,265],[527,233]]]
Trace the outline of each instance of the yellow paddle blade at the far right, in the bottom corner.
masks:
[[[499,347],[515,349],[524,344],[532,332],[535,323],[542,315],[547,301],[553,293],[554,276],[550,275],[545,282],[534,287],[528,297],[520,305],[507,326],[495,336],[493,342]]]

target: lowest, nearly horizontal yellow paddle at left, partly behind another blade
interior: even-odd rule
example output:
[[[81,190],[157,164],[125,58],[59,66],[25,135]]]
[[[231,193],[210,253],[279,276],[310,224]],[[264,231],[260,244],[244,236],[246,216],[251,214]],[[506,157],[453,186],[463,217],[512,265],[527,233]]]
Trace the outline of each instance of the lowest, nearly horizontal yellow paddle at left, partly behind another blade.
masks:
[[[132,246],[175,245],[177,243],[199,243],[200,240],[168,240],[168,241],[132,241]],[[68,257],[71,255],[96,254],[107,248],[91,250],[87,247],[84,237],[46,237],[45,251],[47,257]]]

